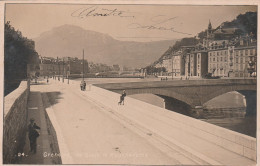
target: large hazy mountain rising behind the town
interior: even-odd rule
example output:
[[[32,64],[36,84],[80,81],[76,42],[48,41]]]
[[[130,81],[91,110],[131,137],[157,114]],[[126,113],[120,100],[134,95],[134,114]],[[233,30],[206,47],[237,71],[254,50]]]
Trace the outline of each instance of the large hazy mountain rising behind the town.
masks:
[[[78,57],[94,63],[145,67],[157,60],[175,40],[154,42],[119,41],[107,34],[63,25],[34,39],[37,52],[46,57]]]

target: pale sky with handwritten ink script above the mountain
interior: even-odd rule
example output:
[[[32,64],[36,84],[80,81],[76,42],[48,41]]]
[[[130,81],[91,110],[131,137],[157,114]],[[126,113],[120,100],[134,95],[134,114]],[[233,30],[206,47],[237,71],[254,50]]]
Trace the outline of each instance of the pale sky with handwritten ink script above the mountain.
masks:
[[[36,38],[64,24],[93,30],[124,41],[194,37],[256,6],[7,4],[5,21],[23,36]]]

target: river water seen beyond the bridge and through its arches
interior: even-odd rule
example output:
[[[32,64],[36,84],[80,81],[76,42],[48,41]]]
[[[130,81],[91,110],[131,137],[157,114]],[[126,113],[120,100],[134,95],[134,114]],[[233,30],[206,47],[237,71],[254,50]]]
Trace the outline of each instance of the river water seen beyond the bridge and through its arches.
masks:
[[[77,79],[81,81],[81,79]],[[160,81],[159,78],[87,78],[87,84],[102,84],[102,83],[119,83],[119,82],[143,82],[143,81]],[[156,105],[164,108],[164,99],[154,94],[136,94],[129,97]],[[246,101],[243,95],[233,91],[220,95],[203,105],[204,108],[232,108],[241,109],[246,107]],[[231,117],[231,118],[210,118],[200,119],[202,121],[224,127],[242,134],[256,137],[256,116],[254,117]]]

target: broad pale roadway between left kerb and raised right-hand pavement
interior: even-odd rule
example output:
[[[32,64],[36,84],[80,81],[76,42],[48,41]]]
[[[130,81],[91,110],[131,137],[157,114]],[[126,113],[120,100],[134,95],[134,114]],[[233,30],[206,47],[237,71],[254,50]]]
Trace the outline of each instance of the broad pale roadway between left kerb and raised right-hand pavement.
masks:
[[[78,89],[76,84],[70,88],[53,80],[48,88],[38,86],[49,99],[46,112],[57,133],[63,164],[198,163],[178,149],[150,139],[148,131],[111,116],[103,106],[82,97]]]

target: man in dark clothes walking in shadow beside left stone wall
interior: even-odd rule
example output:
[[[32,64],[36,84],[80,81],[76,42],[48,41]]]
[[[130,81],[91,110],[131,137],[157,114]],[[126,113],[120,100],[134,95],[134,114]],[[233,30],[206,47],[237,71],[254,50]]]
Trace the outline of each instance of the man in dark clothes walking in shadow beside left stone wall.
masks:
[[[31,152],[36,153],[37,151],[37,138],[40,136],[36,129],[41,129],[39,126],[36,125],[33,118],[30,119],[30,124],[28,125],[28,137],[30,141],[30,149]]]

